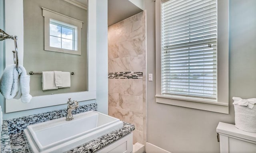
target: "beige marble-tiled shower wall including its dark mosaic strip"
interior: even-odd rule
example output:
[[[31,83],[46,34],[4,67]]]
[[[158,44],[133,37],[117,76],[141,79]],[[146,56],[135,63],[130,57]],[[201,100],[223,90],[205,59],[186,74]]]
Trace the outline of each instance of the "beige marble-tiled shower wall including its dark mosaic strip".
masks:
[[[108,114],[135,125],[146,143],[146,18],[140,12],[108,27]]]

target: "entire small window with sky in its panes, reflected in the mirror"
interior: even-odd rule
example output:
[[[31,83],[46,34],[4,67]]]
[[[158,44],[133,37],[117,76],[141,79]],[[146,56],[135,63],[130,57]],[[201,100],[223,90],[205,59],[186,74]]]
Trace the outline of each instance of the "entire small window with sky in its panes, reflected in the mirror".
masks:
[[[43,9],[44,50],[81,55],[81,30],[84,22]]]

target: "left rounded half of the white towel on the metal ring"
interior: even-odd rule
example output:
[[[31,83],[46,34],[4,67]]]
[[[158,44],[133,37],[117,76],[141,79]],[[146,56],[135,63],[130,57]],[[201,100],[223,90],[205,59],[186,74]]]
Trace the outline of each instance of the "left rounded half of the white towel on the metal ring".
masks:
[[[14,98],[19,90],[19,74],[15,64],[8,65],[4,69],[0,78],[0,92],[7,100]]]

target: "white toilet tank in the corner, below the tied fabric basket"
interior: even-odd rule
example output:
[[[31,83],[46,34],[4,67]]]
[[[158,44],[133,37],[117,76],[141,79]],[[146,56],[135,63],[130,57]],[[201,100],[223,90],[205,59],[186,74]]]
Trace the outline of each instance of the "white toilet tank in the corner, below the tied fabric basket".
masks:
[[[256,153],[256,133],[242,131],[234,124],[219,122],[216,131],[220,153]]]

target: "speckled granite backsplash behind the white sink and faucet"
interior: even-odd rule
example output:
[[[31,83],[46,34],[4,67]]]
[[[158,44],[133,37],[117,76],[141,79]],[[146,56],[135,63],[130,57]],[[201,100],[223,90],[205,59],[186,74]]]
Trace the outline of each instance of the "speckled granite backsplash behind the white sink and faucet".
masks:
[[[97,111],[97,103],[79,106],[78,108],[72,111],[72,114],[87,112],[89,110]],[[41,114],[6,120],[6,122],[8,123],[8,132],[9,134],[20,133],[24,129],[26,129],[26,127],[29,125],[46,122],[49,120],[54,120],[56,118],[62,118],[62,117],[65,117],[66,114],[67,114],[67,109],[62,109],[62,110],[55,110],[47,113],[41,113]]]

